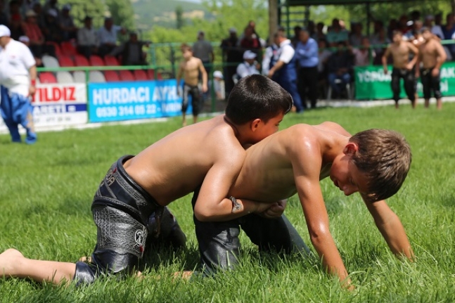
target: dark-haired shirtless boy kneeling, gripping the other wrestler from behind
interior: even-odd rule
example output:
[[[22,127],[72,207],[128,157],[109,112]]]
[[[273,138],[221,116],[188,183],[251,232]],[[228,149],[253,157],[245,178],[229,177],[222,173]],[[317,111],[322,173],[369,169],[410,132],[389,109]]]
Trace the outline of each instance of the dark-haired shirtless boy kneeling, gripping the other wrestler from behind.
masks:
[[[245,201],[241,211],[232,213],[227,193],[243,164],[243,144],[256,143],[276,132],[292,104],[290,95],[267,77],[241,79],[231,91],[225,115],[174,131],[135,157],[126,157],[125,162],[119,160],[111,167],[92,204],[98,235],[89,264],[27,259],[17,250],[6,250],[0,254],[1,276],[52,283],[70,283],[74,278],[77,283],[91,283],[103,273],[131,273],[148,249],[142,243],[148,233],[147,219],[155,217],[142,209],[154,207],[156,214],[199,186],[196,212],[203,209],[203,214],[196,214],[198,217],[219,221],[262,212],[270,205]],[[136,186],[122,187],[119,183]],[[139,195],[141,191],[146,193]],[[148,199],[144,199],[146,196]],[[141,203],[136,206],[138,201]],[[103,217],[105,213],[109,217]],[[167,231],[177,222],[170,224],[160,229]]]

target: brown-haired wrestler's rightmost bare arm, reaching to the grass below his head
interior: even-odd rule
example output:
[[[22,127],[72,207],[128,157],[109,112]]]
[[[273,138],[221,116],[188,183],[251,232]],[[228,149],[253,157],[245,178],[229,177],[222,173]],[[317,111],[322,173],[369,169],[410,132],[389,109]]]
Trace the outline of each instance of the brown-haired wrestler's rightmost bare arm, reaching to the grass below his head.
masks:
[[[373,203],[365,202],[365,204],[390,250],[397,256],[404,255],[413,261],[414,252],[397,214],[390,209],[384,200]]]

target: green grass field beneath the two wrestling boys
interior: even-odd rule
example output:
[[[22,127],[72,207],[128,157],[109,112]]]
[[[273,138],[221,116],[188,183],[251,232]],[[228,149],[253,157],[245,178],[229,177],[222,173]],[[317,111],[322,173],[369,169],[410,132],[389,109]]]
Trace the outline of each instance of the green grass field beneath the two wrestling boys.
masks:
[[[395,258],[359,195],[345,197],[330,180],[321,182],[331,232],[356,290],[340,288],[318,259],[299,255],[259,256],[242,236],[241,266],[214,278],[174,281],[174,271],[198,265],[191,195],[170,205],[188,236],[188,250],[154,253],[147,278],[106,278],[87,287],[0,280],[0,302],[455,302],[455,103],[440,112],[408,104],[395,110],[321,108],[289,114],[281,129],[331,120],[351,133],[369,128],[400,131],[411,144],[413,162],[402,189],[388,200],[402,219],[417,262]],[[75,262],[90,254],[96,226],[90,205],[110,165],[136,154],[178,129],[167,122],[106,126],[39,134],[34,146],[0,135],[0,250],[15,247],[34,259]],[[286,215],[309,246],[297,197]],[[161,262],[160,262],[161,261]],[[160,275],[157,280],[153,277]]]

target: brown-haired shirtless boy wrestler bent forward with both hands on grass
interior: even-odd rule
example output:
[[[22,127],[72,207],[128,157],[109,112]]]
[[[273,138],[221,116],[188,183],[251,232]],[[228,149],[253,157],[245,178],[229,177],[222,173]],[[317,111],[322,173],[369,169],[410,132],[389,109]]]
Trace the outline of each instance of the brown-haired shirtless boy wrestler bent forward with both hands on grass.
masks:
[[[349,285],[347,270],[330,233],[319,181],[330,177],[345,195],[359,192],[390,250],[412,259],[404,227],[384,200],[402,186],[410,164],[409,145],[395,131],[371,129],[351,136],[333,122],[315,126],[297,124],[248,148],[241,173],[229,195],[244,203],[245,199],[273,202],[297,193],[310,239],[323,266]],[[261,239],[263,228],[274,221],[250,214],[229,222],[207,222],[210,221],[208,216],[198,216],[203,213],[201,207],[197,200],[195,215],[204,221],[205,229],[198,228],[200,223],[196,221],[196,233],[199,233],[201,259],[206,266],[226,268],[224,256],[238,254],[238,241],[236,238],[226,240],[223,231],[229,231],[232,237],[241,226],[250,238]],[[280,207],[283,211],[284,205],[269,211],[278,212]],[[263,243],[260,240],[257,243],[259,247],[267,244],[267,238],[262,240]],[[228,261],[235,263],[236,258],[230,257]]]

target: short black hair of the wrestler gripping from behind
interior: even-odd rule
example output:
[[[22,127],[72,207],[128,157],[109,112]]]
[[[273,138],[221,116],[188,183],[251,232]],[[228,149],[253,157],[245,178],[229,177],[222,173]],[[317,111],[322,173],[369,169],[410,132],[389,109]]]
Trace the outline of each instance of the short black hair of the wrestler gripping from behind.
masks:
[[[255,119],[264,122],[293,107],[293,98],[278,83],[262,75],[250,75],[234,85],[226,105],[226,117],[234,124]]]

